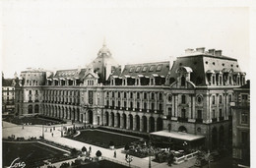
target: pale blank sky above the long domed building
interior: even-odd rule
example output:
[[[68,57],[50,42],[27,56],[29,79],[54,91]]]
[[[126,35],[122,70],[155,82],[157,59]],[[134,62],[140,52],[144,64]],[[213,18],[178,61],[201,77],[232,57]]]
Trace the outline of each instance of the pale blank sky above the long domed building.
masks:
[[[186,48],[221,49],[250,78],[249,10],[148,1],[3,1],[2,71],[85,67],[103,39],[119,64],[166,61]],[[131,3],[130,3],[131,2]],[[144,2],[144,3],[141,3]]]

